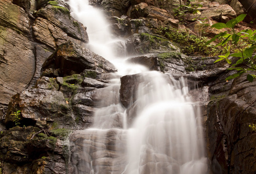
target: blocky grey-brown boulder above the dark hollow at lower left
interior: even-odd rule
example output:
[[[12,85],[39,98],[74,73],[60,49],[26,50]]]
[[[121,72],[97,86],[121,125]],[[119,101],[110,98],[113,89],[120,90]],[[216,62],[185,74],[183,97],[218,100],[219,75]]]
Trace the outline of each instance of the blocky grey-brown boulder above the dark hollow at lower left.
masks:
[[[34,88],[15,95],[6,115],[6,127],[12,127],[15,116],[11,114],[17,110],[21,111],[20,121],[30,119],[32,126],[42,120],[46,120],[55,128],[63,126],[71,128],[74,125],[70,106],[64,99],[63,93],[59,91]]]

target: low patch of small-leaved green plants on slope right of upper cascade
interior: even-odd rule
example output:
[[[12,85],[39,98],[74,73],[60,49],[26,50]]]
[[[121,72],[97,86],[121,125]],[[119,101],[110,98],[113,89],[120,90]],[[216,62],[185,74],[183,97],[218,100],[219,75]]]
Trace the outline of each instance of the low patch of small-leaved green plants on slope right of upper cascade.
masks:
[[[214,56],[221,53],[220,49],[214,45],[208,44],[206,37],[198,37],[197,35],[189,34],[186,30],[176,30],[175,28],[160,27],[159,33],[164,37],[176,42],[181,46],[182,52],[186,55],[198,53],[205,56]]]

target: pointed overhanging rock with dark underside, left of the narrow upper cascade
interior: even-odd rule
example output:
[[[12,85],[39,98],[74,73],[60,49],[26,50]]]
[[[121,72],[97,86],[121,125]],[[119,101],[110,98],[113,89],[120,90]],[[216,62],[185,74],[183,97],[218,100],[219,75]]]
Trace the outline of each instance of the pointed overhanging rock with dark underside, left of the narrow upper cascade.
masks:
[[[79,74],[85,69],[97,69],[102,72],[115,71],[114,66],[109,61],[72,41],[60,45],[48,57],[42,66],[42,72],[49,68],[59,69],[60,76]]]

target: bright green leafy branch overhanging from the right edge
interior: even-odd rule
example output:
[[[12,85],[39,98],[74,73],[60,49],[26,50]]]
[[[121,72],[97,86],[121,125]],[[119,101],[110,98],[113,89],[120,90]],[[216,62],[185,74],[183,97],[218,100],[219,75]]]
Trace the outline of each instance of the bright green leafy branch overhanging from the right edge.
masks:
[[[210,44],[215,41],[217,38],[221,41],[216,46],[225,46],[226,53],[225,55],[219,56],[219,59],[215,61],[225,60],[230,64],[228,70],[236,70],[237,73],[230,75],[226,78],[226,81],[239,77],[243,73],[248,71],[256,71],[255,60],[256,56],[253,55],[256,49],[256,30],[241,30],[239,32],[235,31],[235,26],[246,17],[246,14],[240,14],[236,19],[229,20],[227,23],[217,23],[212,25],[213,28],[222,29],[227,28],[230,32],[221,32],[218,35],[215,35],[210,41],[206,43]],[[231,53],[230,50],[233,50]],[[229,56],[238,57],[236,63],[232,64],[232,60],[229,59]],[[253,82],[255,78],[254,74],[248,74],[247,80]]]

